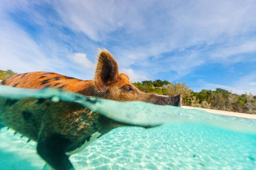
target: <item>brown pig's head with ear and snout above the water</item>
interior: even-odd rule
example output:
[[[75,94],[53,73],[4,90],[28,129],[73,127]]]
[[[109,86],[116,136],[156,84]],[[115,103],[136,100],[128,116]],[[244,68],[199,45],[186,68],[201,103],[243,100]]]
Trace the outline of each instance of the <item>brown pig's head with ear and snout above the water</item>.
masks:
[[[159,105],[181,106],[180,95],[175,97],[146,94],[130,82],[125,73],[118,73],[118,64],[108,50],[100,50],[94,77],[97,96],[116,101],[144,101]]]

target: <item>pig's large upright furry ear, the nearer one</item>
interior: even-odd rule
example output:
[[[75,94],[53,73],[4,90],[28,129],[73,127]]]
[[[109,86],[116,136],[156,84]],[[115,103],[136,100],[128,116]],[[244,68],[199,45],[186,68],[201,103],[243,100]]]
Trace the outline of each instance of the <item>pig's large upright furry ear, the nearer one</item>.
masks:
[[[105,91],[108,83],[118,78],[118,65],[112,54],[106,50],[100,50],[98,53],[98,63],[94,76],[97,90]]]

